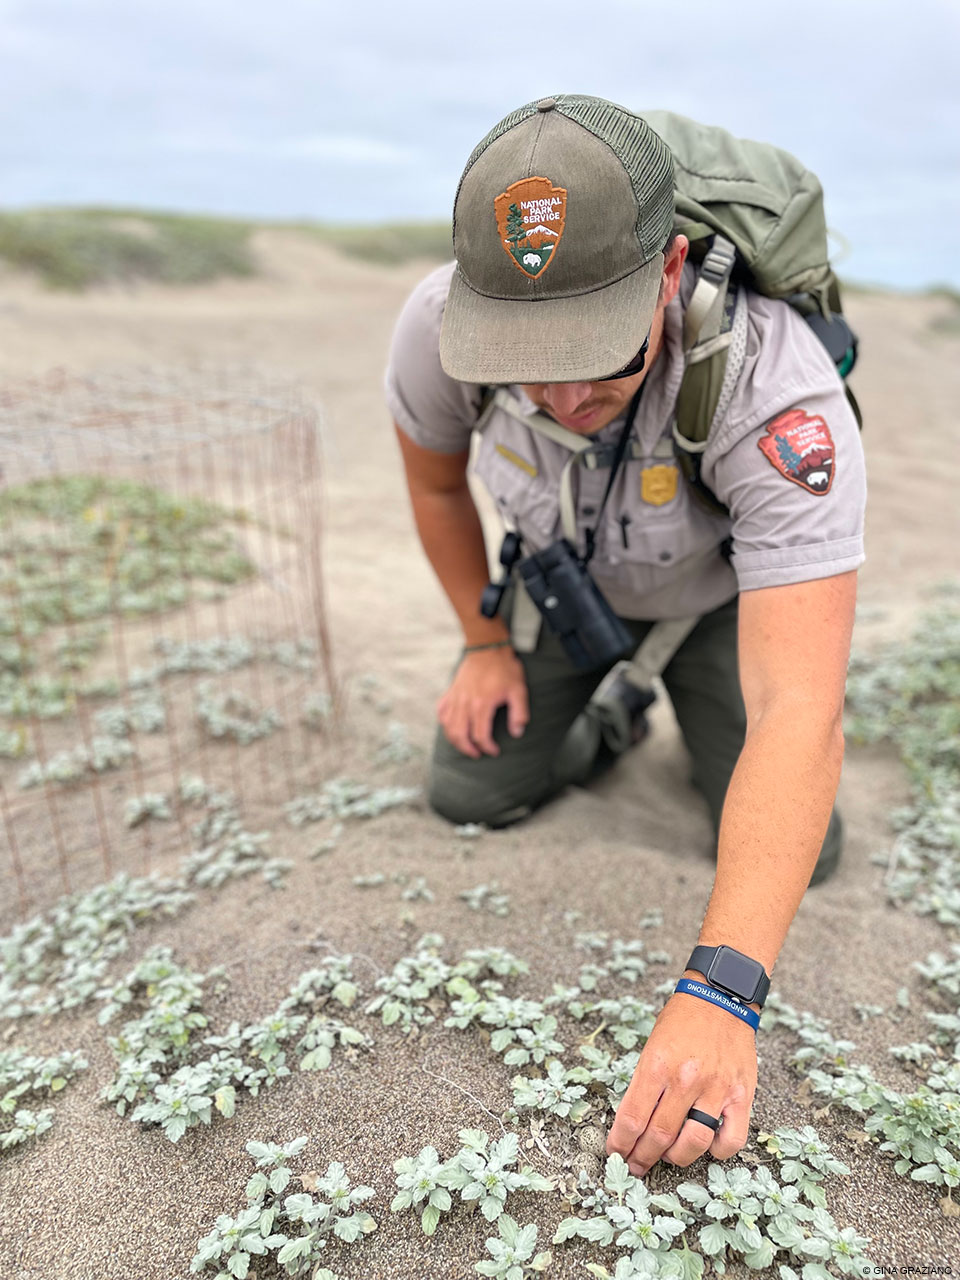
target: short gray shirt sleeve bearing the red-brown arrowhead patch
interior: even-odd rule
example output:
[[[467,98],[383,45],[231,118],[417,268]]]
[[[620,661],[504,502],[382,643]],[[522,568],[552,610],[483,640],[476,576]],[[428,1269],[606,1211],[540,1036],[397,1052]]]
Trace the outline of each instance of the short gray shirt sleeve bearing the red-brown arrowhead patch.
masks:
[[[844,384],[786,303],[751,294],[748,334],[737,390],[701,471],[730,508],[740,590],[855,570],[867,480]]]

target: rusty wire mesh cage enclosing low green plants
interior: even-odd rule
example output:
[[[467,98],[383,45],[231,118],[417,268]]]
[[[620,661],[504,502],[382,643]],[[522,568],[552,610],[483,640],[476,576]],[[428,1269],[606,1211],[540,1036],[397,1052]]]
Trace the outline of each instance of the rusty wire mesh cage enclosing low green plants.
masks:
[[[4,915],[188,847],[197,780],[315,785],[337,692],[320,440],[250,370],[0,388]]]

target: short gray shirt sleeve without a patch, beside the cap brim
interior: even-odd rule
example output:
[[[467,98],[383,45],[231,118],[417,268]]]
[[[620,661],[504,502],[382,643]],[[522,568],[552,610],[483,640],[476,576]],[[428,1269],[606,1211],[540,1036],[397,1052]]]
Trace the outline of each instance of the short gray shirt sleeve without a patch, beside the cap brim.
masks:
[[[460,453],[480,412],[483,389],[448,378],[440,366],[440,321],[452,262],[431,271],[407,298],[393,330],[384,381],[387,407],[425,449]]]

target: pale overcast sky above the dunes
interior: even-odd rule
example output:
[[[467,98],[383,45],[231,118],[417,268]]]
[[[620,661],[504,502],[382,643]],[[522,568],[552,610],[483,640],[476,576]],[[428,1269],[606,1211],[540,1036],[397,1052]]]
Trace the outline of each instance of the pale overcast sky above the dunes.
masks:
[[[0,206],[447,218],[490,125],[585,92],[787,147],[842,274],[960,285],[959,60],[957,0],[0,0]]]

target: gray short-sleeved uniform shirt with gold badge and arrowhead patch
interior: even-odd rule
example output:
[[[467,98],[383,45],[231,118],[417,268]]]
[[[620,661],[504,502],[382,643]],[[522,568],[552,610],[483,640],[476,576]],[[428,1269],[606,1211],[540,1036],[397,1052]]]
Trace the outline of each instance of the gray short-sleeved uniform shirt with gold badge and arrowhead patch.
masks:
[[[439,330],[453,264],[411,293],[397,321],[387,403],[397,425],[438,453],[470,445],[483,388],[448,378]],[[666,307],[663,346],[646,376],[634,424],[640,457],[621,467],[596,529],[590,572],[617,613],[678,618],[705,613],[737,590],[804,582],[863,563],[867,484],[856,420],[819,340],[785,302],[748,293],[746,358],[722,421],[703,454],[703,480],[730,508],[705,509],[664,448],[684,374],[687,265]],[[538,412],[509,388],[520,417]],[[616,442],[623,419],[594,436]],[[488,417],[474,468],[527,552],[562,536],[559,477],[570,457],[500,408]],[[609,470],[577,468],[580,550],[595,525]],[[721,544],[732,540],[732,556]]]

